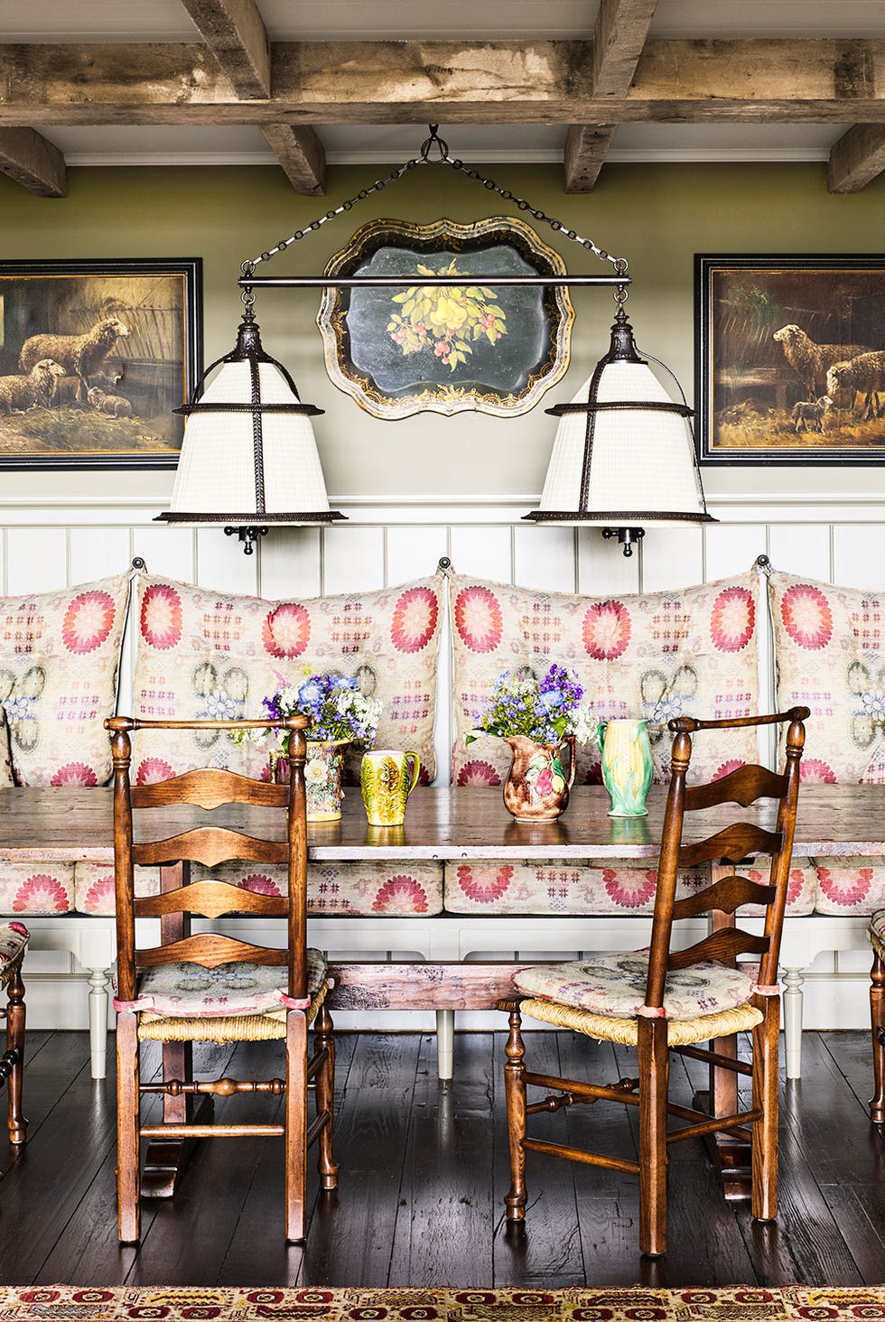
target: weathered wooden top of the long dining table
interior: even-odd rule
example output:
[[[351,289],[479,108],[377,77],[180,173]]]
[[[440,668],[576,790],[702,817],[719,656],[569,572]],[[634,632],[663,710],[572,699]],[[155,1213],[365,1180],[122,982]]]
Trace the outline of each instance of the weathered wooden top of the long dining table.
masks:
[[[340,822],[311,822],[311,859],[462,859],[462,858],[655,858],[665,791],[652,788],[648,816],[607,816],[609,796],[597,785],[573,789],[556,822],[511,818],[499,789],[415,789],[405,826],[369,826],[358,789],[344,797]],[[750,814],[771,826],[774,804]],[[220,809],[239,829],[266,829],[271,809]],[[153,836],[206,821],[200,809],[172,808],[149,814]],[[685,841],[709,836],[733,820],[733,806],[693,813]],[[282,818],[280,818],[282,838]],[[852,857],[885,854],[885,785],[803,785],[794,842],[796,855]],[[0,858],[19,862],[97,862],[112,859],[111,791],[107,788],[0,789]]]

